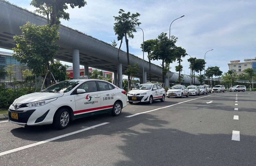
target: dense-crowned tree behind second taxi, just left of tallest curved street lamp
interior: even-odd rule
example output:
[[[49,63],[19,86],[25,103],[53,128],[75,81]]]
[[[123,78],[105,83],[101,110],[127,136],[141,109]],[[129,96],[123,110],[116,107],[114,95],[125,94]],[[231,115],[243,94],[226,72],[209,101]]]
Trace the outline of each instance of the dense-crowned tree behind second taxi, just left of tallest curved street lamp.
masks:
[[[171,36],[168,39],[167,33],[161,33],[158,35],[156,39],[155,46],[152,50],[152,60],[162,60],[162,82],[164,83],[164,76],[168,70],[168,64],[172,63],[176,60],[176,56],[174,54],[175,51],[175,43],[178,38],[175,36]],[[164,65],[164,62],[167,65]]]

